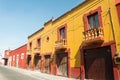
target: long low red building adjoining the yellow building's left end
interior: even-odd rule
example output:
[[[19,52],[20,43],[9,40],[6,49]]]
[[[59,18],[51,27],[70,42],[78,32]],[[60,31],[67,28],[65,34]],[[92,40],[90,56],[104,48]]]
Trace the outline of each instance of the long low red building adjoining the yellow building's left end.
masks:
[[[10,66],[18,68],[26,68],[26,51],[27,45],[23,45],[15,50],[10,52]]]

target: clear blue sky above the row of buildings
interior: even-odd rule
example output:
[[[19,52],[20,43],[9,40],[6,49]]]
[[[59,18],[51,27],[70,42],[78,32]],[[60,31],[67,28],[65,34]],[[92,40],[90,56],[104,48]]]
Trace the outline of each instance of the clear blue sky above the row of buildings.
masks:
[[[0,0],[0,54],[27,43],[43,24],[58,18],[83,0]]]

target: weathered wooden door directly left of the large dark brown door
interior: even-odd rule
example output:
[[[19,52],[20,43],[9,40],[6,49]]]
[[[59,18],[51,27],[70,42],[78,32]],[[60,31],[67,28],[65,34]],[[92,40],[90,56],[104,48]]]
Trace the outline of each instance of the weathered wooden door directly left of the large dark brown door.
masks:
[[[68,76],[68,54],[57,54],[58,75]]]

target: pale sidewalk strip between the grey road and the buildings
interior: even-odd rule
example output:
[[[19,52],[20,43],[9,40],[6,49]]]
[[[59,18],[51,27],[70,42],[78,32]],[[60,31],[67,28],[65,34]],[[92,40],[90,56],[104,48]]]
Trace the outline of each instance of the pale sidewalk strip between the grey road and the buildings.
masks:
[[[16,67],[8,67],[8,66],[5,66],[5,67],[9,68],[11,70],[14,70],[16,72],[19,72],[19,73],[37,78],[39,80],[76,80],[76,79],[73,79],[73,78],[67,78],[67,77],[55,76],[55,75],[51,75],[51,74],[45,74],[45,73],[41,73],[39,71],[31,71],[31,70],[26,70],[26,69],[21,69],[21,68],[16,68]]]

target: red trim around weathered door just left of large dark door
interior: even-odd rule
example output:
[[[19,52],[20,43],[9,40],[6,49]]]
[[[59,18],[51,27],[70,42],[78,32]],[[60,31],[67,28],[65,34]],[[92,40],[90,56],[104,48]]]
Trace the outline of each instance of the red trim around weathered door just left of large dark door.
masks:
[[[62,54],[68,54],[68,76],[63,76],[63,75],[58,75],[57,72],[58,72],[58,67],[57,67],[57,63],[56,63],[56,75],[57,76],[63,76],[63,77],[71,77],[71,69],[70,69],[70,49],[67,49],[66,51],[64,51],[65,53],[62,53]],[[56,55],[57,54],[61,54],[61,51],[59,52],[56,52],[55,53]],[[58,61],[57,57],[56,57],[56,62]]]

